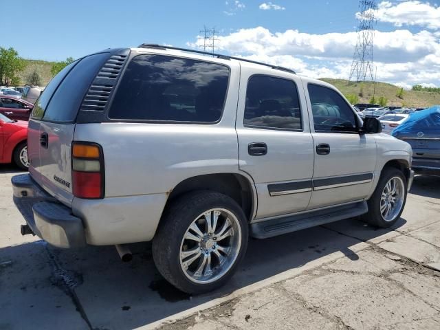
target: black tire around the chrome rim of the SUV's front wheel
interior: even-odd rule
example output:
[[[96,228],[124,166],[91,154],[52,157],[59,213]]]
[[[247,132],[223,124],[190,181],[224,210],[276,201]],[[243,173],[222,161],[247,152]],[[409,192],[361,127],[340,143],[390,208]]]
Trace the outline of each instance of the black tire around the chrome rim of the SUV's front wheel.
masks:
[[[404,183],[404,200],[401,205],[400,211],[396,214],[394,219],[392,219],[391,221],[386,221],[384,217],[382,217],[382,213],[380,212],[380,200],[385,185],[393,177],[399,177]],[[377,183],[376,189],[373,192],[373,195],[371,195],[371,198],[369,199],[369,201],[367,201],[369,206],[369,212],[362,214],[361,216],[362,221],[380,228],[389,228],[392,225],[394,225],[399,220],[401,212],[403,212],[405,208],[406,195],[407,195],[406,187],[407,187],[406,177],[404,173],[401,172],[401,170],[398,170],[397,168],[394,167],[384,168],[384,170],[382,170],[382,175],[380,175],[380,179],[379,182]]]

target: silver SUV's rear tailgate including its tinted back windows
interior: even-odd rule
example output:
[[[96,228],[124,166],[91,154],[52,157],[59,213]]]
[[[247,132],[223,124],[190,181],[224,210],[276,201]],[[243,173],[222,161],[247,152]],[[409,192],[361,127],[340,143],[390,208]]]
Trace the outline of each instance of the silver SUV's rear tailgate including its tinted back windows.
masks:
[[[31,163],[30,173],[50,195],[67,206],[72,206],[74,197],[71,148],[76,115],[107,58],[109,53],[94,54],[65,67],[47,85],[32,111],[33,120],[39,120],[40,125],[38,134],[32,133],[34,142],[29,153],[33,157],[39,155],[39,162],[34,162],[36,166]]]

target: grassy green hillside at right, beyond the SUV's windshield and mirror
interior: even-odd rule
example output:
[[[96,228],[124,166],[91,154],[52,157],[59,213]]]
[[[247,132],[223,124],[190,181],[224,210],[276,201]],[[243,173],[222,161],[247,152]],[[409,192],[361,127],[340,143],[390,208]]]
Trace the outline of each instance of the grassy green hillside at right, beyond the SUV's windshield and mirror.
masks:
[[[372,82],[354,83],[344,79],[331,78],[321,78],[320,80],[335,86],[344,95],[355,94],[359,96],[360,103],[369,103],[373,96],[374,83]],[[361,87],[363,91],[362,96],[360,96]],[[376,83],[375,99],[378,100],[378,98],[384,96],[384,98],[388,100],[386,105],[395,105],[399,107],[423,108],[430,107],[434,104],[440,104],[440,93],[428,91],[404,91],[403,98],[398,98],[396,94],[399,88],[400,87],[388,83]]]

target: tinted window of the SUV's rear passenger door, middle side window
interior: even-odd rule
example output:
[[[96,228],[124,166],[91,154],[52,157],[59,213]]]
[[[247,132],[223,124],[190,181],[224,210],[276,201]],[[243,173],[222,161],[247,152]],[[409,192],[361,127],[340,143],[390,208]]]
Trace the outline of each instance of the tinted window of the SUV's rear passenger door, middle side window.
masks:
[[[302,129],[298,91],[292,80],[252,76],[248,82],[245,126]]]

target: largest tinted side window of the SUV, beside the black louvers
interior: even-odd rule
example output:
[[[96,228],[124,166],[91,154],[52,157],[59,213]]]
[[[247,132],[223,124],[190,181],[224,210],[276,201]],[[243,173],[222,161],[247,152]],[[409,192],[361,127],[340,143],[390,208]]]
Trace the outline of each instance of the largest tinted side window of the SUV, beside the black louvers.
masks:
[[[217,122],[228,81],[225,65],[173,56],[135,56],[122,76],[109,118]]]

